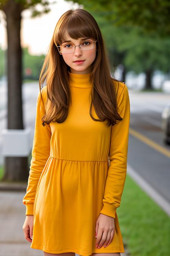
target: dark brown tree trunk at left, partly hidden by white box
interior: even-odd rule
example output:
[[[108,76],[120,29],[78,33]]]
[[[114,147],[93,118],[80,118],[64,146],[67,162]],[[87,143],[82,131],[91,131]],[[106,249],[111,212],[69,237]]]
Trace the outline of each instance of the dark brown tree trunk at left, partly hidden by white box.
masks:
[[[8,123],[7,129],[24,129],[22,112],[22,49],[20,26],[22,6],[9,0],[3,8],[6,14],[8,50]],[[5,175],[2,181],[26,181],[28,157],[5,157]]]

